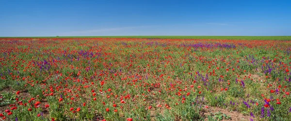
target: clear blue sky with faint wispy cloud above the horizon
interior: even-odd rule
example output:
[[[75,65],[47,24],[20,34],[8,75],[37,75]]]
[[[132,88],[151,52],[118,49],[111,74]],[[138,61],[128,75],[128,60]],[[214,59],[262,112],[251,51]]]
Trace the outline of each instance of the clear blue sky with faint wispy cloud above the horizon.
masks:
[[[291,35],[291,0],[0,0],[0,36]]]

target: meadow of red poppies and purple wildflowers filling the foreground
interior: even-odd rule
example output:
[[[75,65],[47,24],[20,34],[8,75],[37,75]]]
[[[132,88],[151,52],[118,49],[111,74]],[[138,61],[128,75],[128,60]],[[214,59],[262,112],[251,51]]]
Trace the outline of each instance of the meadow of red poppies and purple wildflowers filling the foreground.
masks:
[[[0,38],[0,121],[291,121],[291,41]]]

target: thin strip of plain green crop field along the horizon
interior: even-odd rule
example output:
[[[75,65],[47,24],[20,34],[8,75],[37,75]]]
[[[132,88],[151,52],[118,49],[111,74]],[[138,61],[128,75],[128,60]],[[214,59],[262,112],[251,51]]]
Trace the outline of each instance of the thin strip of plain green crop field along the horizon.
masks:
[[[14,38],[163,38],[163,39],[234,39],[234,40],[291,40],[291,36],[43,36]],[[7,37],[0,37],[7,38]]]

